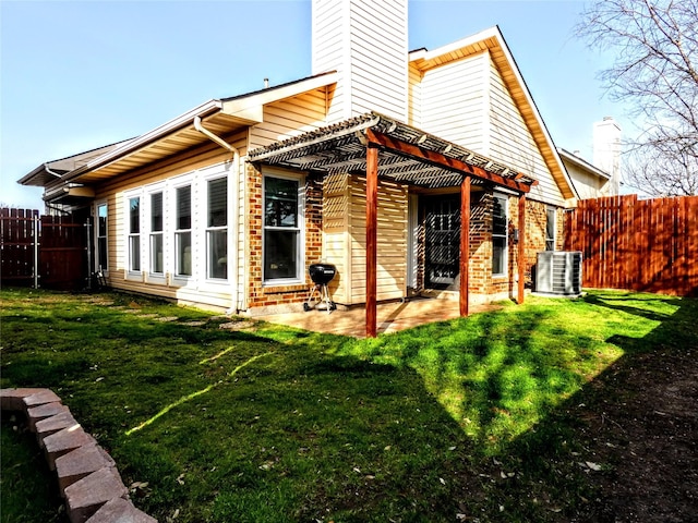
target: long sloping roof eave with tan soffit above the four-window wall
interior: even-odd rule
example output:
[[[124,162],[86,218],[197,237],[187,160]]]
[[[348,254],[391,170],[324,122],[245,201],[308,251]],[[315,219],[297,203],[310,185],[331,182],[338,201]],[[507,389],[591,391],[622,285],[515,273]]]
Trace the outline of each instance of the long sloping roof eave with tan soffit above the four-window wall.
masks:
[[[241,96],[208,100],[141,136],[104,148],[103,154],[92,156],[83,165],[64,171],[61,181],[95,182],[160,160],[208,141],[194,129],[196,117],[203,119],[206,129],[214,133],[234,132],[261,122],[264,105],[330,85],[336,81],[336,73],[332,71]],[[35,171],[22,178],[19,183],[47,185],[55,181],[55,177],[48,179]]]

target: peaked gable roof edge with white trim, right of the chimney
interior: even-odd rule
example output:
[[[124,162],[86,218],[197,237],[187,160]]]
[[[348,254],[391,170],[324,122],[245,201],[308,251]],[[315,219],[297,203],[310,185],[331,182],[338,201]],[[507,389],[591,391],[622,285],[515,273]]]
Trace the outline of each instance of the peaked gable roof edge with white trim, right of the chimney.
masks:
[[[545,122],[533,101],[533,97],[526,85],[526,81],[498,26],[490,27],[476,35],[432,51],[425,49],[414,50],[410,52],[409,59],[410,63],[420,71],[426,71],[452,61],[462,60],[464,58],[478,54],[485,50],[490,52],[492,61],[500,70],[504,83],[563,196],[565,198],[578,197],[569,174],[557,154],[553,138],[547,132]]]

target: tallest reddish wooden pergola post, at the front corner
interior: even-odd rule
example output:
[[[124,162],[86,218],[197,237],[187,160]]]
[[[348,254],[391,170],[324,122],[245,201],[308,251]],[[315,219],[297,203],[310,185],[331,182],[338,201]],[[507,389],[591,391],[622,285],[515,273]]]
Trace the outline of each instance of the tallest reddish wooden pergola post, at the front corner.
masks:
[[[366,147],[366,338],[377,335],[378,149]]]

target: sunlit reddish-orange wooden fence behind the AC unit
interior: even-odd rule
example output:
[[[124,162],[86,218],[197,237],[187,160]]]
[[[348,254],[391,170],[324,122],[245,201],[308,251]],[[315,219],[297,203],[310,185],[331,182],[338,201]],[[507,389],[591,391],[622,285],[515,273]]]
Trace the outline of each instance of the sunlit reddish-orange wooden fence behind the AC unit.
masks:
[[[698,295],[698,196],[585,199],[565,217],[583,287]]]

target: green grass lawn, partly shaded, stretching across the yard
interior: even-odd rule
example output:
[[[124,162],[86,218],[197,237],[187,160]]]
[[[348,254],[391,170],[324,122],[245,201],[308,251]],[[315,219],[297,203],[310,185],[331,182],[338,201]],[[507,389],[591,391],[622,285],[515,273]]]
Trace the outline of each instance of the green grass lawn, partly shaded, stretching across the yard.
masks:
[[[621,465],[588,405],[627,402],[638,358],[698,349],[698,301],[623,292],[373,340],[119,293],[0,299],[0,385],[53,389],[160,522],[605,521]],[[1,521],[60,522],[20,422],[2,421]]]

